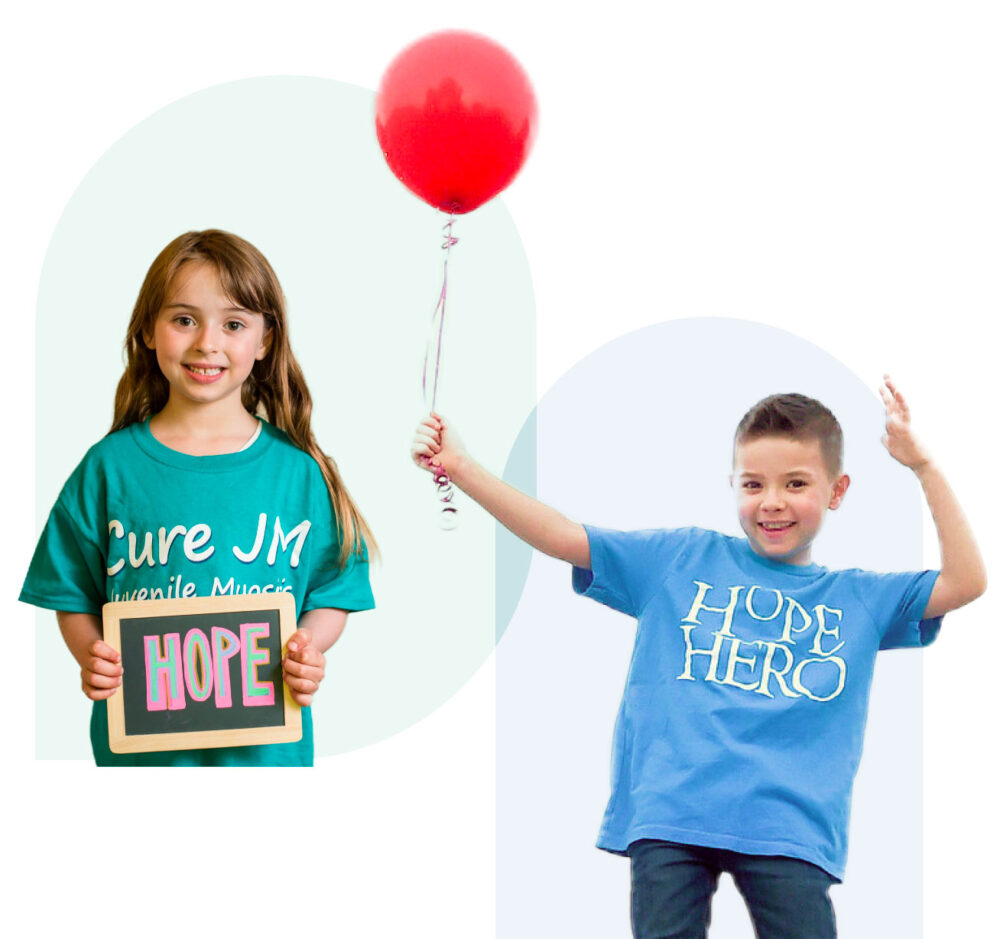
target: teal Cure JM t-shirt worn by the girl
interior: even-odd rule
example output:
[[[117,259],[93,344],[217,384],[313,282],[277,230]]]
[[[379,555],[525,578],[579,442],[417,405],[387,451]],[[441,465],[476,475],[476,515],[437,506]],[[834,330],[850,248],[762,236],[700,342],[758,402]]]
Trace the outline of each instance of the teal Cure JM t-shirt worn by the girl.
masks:
[[[161,444],[149,423],[95,444],[49,515],[20,599],[101,615],[113,600],[288,592],[296,619],[317,608],[374,607],[367,554],[340,569],[338,527],[319,465],[271,424],[246,450],[190,456]],[[135,755],[108,749],[107,707],[94,703],[99,765],[310,766],[302,740]]]

